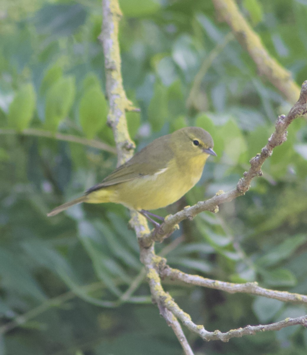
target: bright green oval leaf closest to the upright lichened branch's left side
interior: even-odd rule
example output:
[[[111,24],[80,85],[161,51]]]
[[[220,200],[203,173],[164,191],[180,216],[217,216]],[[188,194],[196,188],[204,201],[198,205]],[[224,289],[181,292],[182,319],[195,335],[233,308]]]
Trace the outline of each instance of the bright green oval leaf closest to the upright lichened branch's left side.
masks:
[[[80,100],[79,117],[83,132],[88,139],[93,139],[96,133],[107,121],[108,105],[105,95],[97,86],[91,87]]]

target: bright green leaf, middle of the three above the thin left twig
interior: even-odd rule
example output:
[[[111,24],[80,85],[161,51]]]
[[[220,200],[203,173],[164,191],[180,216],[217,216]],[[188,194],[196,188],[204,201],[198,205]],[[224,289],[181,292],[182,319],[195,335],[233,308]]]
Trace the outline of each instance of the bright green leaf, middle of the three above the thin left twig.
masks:
[[[72,76],[63,76],[49,88],[46,94],[45,126],[52,132],[68,115],[75,95],[75,80]]]

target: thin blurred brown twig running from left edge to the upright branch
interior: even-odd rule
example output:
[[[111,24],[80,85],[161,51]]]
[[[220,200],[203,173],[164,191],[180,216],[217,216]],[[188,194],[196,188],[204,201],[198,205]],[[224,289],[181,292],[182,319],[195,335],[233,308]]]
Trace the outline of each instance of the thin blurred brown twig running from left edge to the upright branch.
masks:
[[[16,135],[16,136],[22,135],[22,136],[36,136],[36,137],[53,138],[53,139],[56,139],[59,141],[79,143],[79,144],[83,144],[85,146],[100,149],[102,151],[116,153],[115,148],[109,146],[106,143],[96,141],[94,139],[86,139],[86,138],[68,135],[68,134],[62,134],[62,133],[52,133],[52,132],[44,131],[44,130],[37,129],[37,128],[29,128],[29,129],[23,130],[21,132],[13,130],[13,129],[4,128],[4,129],[0,129],[0,135]]]

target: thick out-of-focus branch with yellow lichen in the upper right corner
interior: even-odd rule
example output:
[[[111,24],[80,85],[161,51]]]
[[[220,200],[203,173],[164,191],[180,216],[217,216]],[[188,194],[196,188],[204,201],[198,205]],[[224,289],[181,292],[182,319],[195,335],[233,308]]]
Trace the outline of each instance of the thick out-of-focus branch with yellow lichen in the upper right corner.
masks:
[[[213,4],[218,18],[229,24],[238,41],[255,62],[258,73],[283,93],[290,103],[295,103],[300,89],[292,80],[291,74],[269,55],[259,36],[241,15],[235,1],[213,0]]]

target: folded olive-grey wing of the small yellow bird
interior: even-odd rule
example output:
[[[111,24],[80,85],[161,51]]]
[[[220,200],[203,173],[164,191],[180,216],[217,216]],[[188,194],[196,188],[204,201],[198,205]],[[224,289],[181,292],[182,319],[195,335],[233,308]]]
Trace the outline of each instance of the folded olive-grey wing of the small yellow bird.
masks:
[[[168,154],[166,154],[166,150]],[[136,153],[128,162],[115,169],[100,184],[88,189],[86,194],[106,186],[160,173],[163,169],[167,168],[169,160],[172,158],[173,153],[169,148],[168,136],[157,138],[154,149],[152,143],[150,143],[140,152]]]

